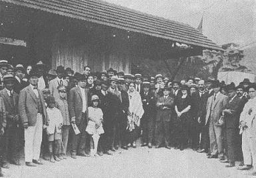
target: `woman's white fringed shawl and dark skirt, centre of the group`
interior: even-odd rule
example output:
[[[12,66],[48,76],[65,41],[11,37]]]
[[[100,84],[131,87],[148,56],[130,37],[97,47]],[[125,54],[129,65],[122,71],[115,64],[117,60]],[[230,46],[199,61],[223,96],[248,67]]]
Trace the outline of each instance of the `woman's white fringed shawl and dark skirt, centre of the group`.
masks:
[[[137,91],[130,92],[128,91],[129,96],[129,111],[130,115],[128,116],[128,142],[134,142],[140,135],[140,119],[144,114],[144,109],[142,106],[142,99],[140,93]]]

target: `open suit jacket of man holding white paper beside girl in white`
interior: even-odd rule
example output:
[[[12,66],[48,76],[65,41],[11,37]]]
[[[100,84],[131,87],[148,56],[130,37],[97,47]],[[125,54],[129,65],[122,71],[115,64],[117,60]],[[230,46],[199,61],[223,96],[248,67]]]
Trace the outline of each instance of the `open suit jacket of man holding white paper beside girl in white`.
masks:
[[[87,101],[86,120],[88,120],[88,90],[84,89],[85,99]],[[82,93],[79,86],[70,90],[68,100],[68,111],[70,118],[76,118],[76,124],[80,124],[82,118]]]

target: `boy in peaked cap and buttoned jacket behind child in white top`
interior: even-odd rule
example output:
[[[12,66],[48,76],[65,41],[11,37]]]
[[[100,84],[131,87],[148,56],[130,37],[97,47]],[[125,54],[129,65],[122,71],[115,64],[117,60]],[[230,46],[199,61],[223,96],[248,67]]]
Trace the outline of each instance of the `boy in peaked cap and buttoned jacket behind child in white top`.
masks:
[[[56,107],[63,115],[62,141],[60,159],[66,159],[66,147],[68,145],[68,134],[70,129],[70,118],[68,114],[68,102],[66,101],[66,87],[59,86],[59,99],[56,100]]]

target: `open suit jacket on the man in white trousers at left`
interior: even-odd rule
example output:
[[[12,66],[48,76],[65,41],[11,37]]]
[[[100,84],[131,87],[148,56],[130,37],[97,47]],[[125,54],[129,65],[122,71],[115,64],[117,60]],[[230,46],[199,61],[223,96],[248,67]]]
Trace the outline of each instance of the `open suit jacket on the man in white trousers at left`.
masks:
[[[41,90],[38,90],[39,99],[43,107],[43,124],[49,123],[49,118],[45,108],[45,101],[43,98],[43,93]],[[21,90],[19,94],[19,116],[21,117],[21,122],[28,122],[29,126],[35,126],[37,122],[37,97],[31,88],[31,86],[25,87]]]

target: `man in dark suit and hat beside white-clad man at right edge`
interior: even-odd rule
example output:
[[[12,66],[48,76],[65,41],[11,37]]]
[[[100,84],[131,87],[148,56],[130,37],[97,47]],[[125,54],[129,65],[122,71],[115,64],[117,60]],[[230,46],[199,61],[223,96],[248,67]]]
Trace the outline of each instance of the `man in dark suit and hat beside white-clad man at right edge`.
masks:
[[[227,151],[227,158],[229,165],[226,167],[234,167],[235,161],[243,161],[242,148],[239,136],[239,117],[243,108],[241,99],[236,96],[236,89],[233,85],[227,85],[228,101],[223,110],[224,116],[224,140],[225,150]]]

